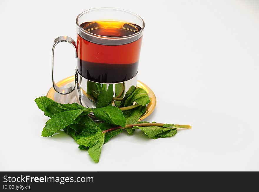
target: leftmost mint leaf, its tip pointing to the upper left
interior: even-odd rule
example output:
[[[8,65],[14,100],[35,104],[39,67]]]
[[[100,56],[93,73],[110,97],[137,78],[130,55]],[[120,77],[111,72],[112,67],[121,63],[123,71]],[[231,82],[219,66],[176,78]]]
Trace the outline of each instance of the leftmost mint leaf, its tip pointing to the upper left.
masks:
[[[67,110],[67,108],[45,96],[38,97],[34,101],[36,102],[39,109],[44,112],[44,115],[48,117]]]

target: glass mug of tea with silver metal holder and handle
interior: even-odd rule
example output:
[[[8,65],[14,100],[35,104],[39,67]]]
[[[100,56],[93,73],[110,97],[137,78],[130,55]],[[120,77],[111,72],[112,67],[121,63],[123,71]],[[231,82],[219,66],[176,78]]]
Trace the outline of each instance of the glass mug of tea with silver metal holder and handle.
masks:
[[[59,94],[76,89],[78,103],[89,108],[102,107],[104,103],[98,103],[98,96],[107,91],[112,91],[113,97],[122,98],[130,86],[137,85],[143,19],[122,9],[96,8],[77,16],[76,24],[77,43],[68,36],[54,40],[53,88]],[[66,88],[54,82],[54,48],[62,41],[74,46],[77,58],[74,86]]]

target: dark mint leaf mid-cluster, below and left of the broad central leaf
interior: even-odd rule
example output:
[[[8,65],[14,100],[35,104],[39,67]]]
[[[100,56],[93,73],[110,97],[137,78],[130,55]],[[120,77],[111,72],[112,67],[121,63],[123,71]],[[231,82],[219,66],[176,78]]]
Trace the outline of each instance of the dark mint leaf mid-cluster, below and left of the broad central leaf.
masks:
[[[88,116],[83,116],[78,124],[70,124],[69,127],[83,136],[89,136],[101,131],[98,125],[96,125],[96,123],[94,123],[94,121]]]

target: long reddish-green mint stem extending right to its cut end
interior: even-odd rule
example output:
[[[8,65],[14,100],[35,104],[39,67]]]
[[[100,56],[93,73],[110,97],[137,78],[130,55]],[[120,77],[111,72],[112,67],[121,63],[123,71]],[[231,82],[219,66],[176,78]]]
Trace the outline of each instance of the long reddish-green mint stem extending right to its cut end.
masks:
[[[113,130],[116,130],[116,129],[132,128],[134,126],[139,126],[139,127],[148,127],[148,126],[163,127],[164,125],[165,125],[165,123],[136,123],[136,124],[128,124],[128,125],[125,125],[125,127],[119,126],[119,127],[114,127],[114,128],[110,128],[110,129],[104,130],[104,131],[102,131],[102,133],[107,133],[109,131],[113,131]],[[174,128],[175,129],[178,129],[178,128],[191,129],[192,126],[191,125],[175,125]]]

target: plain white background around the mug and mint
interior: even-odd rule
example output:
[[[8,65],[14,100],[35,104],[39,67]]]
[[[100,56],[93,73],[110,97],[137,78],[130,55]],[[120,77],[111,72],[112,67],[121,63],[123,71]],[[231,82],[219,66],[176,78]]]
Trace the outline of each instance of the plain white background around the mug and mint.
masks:
[[[40,3],[42,2],[42,3]],[[139,80],[157,96],[146,120],[190,124],[164,139],[122,133],[99,163],[48,120],[34,99],[51,85],[55,38],[75,19],[118,7],[145,21]],[[247,1],[1,1],[1,171],[259,171],[259,3]],[[57,80],[73,75],[73,48],[57,45]]]

